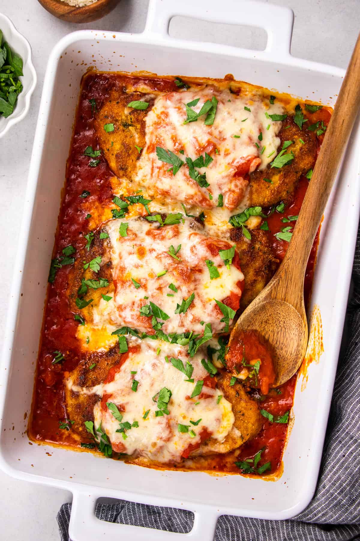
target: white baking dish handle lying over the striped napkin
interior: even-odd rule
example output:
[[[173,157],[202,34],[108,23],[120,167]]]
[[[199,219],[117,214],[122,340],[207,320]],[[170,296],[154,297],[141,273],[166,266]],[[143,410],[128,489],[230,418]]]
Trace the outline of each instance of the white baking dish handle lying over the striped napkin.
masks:
[[[95,516],[95,506],[101,494],[74,492],[69,523],[71,541],[213,541],[219,514],[205,506],[189,509],[194,513],[194,525],[189,533],[166,532],[142,526],[117,524],[99,520]]]

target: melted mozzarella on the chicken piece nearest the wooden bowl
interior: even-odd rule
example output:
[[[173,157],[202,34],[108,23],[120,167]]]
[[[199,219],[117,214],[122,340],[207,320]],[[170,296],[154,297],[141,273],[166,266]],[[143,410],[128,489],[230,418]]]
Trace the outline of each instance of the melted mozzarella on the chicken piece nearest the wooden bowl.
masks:
[[[205,124],[206,115],[184,124],[186,103],[199,98],[192,107],[199,113],[202,105],[213,96],[218,100],[218,106],[212,125]],[[233,210],[247,197],[248,181],[244,177],[258,166],[264,169],[273,159],[269,155],[274,156],[277,152],[280,144],[277,134],[282,124],[272,122],[266,116],[274,113],[283,113],[282,105],[277,103],[268,107],[260,96],[238,96],[210,86],[158,96],[146,116],[146,146],[138,161],[135,178],[151,195],[203,208],[216,207],[221,194],[224,206]],[[174,176],[168,170],[171,165],[158,159],[158,146],[173,151],[182,161],[186,157],[195,160],[207,152],[213,161],[208,167],[197,170],[200,174],[206,173],[209,186],[200,187],[189,176],[186,163]],[[179,150],[184,150],[184,154],[179,154]]]

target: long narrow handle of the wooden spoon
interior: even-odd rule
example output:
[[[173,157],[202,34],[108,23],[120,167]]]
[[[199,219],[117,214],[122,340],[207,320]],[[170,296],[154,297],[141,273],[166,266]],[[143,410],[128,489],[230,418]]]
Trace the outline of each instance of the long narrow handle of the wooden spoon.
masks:
[[[360,34],[336,100],[334,113],[331,115],[324,136],[313,177],[305,194],[287,254],[279,269],[288,282],[286,286],[288,291],[287,300],[289,302],[291,302],[291,299],[289,299],[290,289],[293,291],[297,289],[294,287],[289,288],[291,282],[292,285],[294,280],[300,282],[301,285],[303,283],[311,246],[313,246],[359,106]],[[358,182],[358,179],[351,179],[350,181]],[[294,291],[294,294],[297,295],[298,299],[298,289],[296,292]],[[294,300],[296,302],[296,299]]]

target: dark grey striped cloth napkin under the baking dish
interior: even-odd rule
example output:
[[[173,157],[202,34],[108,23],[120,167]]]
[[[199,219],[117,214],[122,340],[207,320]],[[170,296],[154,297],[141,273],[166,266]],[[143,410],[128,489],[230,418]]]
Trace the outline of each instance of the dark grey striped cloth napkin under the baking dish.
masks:
[[[360,540],[360,230],[339,358],[334,395],[325,438],[322,467],[313,500],[290,520],[260,520],[222,516],[215,541],[350,541]],[[71,504],[58,514],[60,539],[69,538]],[[119,501],[97,504],[100,520],[188,533],[193,513]],[[121,527],[119,527],[119,539]],[[156,539],[156,531],[148,539]]]

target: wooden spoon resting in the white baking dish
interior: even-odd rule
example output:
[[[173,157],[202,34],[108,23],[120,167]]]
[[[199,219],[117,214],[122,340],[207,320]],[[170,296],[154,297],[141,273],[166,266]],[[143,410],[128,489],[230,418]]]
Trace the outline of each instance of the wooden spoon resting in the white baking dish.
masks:
[[[237,333],[255,330],[275,352],[274,386],[295,374],[308,343],[304,306],[304,275],[311,246],[324,213],[332,184],[360,106],[360,35],[349,63],[334,113],[324,136],[313,177],[304,197],[289,247],[278,271],[237,320],[229,345]],[[351,179],[358,182],[358,179]]]

